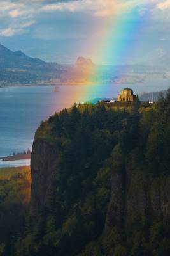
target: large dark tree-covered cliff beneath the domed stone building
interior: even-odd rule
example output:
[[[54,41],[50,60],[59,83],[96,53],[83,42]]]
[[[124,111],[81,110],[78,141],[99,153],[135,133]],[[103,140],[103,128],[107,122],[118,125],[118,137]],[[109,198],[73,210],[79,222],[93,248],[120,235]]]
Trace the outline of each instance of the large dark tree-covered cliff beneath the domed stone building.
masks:
[[[169,95],[147,108],[74,105],[41,124],[18,255],[169,255]]]

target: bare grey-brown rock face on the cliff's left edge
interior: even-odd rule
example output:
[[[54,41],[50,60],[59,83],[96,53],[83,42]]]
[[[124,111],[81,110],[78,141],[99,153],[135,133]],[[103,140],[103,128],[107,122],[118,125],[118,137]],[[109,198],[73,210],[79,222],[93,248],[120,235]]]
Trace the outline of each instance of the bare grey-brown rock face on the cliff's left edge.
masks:
[[[31,208],[32,216],[37,217],[42,207],[50,204],[53,191],[53,172],[57,148],[41,139],[34,140],[31,155]]]

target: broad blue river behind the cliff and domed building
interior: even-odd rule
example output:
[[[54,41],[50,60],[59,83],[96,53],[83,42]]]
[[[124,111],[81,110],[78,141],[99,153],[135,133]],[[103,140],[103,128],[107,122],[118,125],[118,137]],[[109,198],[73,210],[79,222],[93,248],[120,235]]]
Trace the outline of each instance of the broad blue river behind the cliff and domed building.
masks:
[[[164,79],[128,86],[134,90],[134,93],[141,93],[164,90],[169,88],[169,84],[170,81]],[[0,88],[0,156],[32,148],[34,134],[41,121],[63,108],[70,107],[77,100],[76,93],[82,90],[82,86],[57,87],[59,92],[56,93],[53,92],[54,86]],[[103,84],[99,87],[100,89],[96,90],[96,85],[94,86],[94,93],[92,88],[87,100],[97,97],[117,97],[118,92],[127,87],[127,84],[113,84],[113,86]],[[0,166],[25,164],[29,164],[29,161],[0,162]]]

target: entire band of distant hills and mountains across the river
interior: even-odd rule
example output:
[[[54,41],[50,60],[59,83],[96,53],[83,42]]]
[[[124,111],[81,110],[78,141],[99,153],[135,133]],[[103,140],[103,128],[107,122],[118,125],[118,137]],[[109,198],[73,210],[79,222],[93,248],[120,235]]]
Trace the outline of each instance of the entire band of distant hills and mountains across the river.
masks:
[[[147,79],[166,79],[170,72],[149,65],[94,65],[78,57],[74,65],[46,63],[22,51],[10,51],[0,44],[0,87],[38,84],[136,84]]]

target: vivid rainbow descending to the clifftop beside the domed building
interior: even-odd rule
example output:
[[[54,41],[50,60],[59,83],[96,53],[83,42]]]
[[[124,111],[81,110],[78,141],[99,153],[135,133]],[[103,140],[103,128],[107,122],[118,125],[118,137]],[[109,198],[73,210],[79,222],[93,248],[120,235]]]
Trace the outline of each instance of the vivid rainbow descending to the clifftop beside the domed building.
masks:
[[[125,65],[131,60],[138,49],[139,40],[142,40],[143,30],[148,25],[148,16],[139,13],[138,8],[125,10],[122,15],[114,15],[103,22],[103,27],[99,28],[102,35],[101,42],[94,40],[92,44],[92,60],[97,60],[101,65],[110,63],[110,75],[121,81],[122,74],[126,72]],[[130,40],[125,40],[130,38]],[[136,40],[138,39],[138,40]],[[116,68],[117,65],[123,65],[121,72]],[[113,84],[105,84],[101,81],[106,79],[104,68],[96,68],[95,72],[87,76],[87,84],[77,88],[74,96],[69,95],[69,99],[74,102],[88,102],[96,97],[103,97],[103,90],[111,91]],[[102,84],[103,83],[103,84]],[[78,87],[78,86],[77,86]],[[120,90],[121,90],[120,86]],[[111,95],[110,95],[111,96]]]

